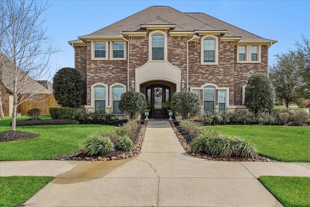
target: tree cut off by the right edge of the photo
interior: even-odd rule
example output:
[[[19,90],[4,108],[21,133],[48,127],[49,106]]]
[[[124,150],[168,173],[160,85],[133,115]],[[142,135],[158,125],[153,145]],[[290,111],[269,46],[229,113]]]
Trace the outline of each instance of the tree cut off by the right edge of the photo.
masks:
[[[298,54],[299,74],[301,81],[297,91],[300,96],[310,100],[310,42],[302,35],[302,43],[295,43]],[[310,112],[310,110],[309,110]]]

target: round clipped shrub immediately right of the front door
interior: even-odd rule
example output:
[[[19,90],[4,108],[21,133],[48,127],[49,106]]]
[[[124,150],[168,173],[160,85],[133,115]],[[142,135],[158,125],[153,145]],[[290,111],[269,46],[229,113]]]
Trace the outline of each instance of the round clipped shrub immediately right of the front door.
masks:
[[[195,116],[200,111],[200,98],[192,92],[179,91],[173,94],[171,109],[176,115],[185,120]]]

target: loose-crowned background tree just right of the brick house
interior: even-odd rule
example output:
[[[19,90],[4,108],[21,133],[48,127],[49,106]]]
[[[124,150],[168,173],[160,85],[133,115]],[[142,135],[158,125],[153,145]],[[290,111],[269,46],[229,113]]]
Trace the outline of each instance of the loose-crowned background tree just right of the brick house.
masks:
[[[299,56],[294,51],[276,55],[277,63],[269,67],[269,77],[275,87],[278,99],[285,101],[286,108],[289,103],[298,101],[300,95],[297,88],[300,85]]]

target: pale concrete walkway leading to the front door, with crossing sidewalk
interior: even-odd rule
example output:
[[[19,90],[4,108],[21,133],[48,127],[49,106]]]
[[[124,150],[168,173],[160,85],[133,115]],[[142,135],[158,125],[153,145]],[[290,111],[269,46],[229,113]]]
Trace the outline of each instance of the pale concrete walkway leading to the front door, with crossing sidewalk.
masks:
[[[140,155],[115,161],[1,161],[0,176],[56,178],[31,207],[278,207],[256,179],[310,176],[310,163],[216,162],[187,155],[169,122],[149,122]]]

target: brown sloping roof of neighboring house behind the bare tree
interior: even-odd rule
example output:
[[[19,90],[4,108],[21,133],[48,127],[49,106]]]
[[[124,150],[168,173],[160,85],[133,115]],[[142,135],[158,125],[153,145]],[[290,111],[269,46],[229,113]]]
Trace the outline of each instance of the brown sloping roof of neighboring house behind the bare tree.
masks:
[[[9,90],[13,91],[13,68],[14,64],[5,55],[0,53],[0,80],[1,84]],[[50,90],[42,86],[37,81],[29,77],[24,71],[18,70],[17,91],[19,94],[52,94]]]

